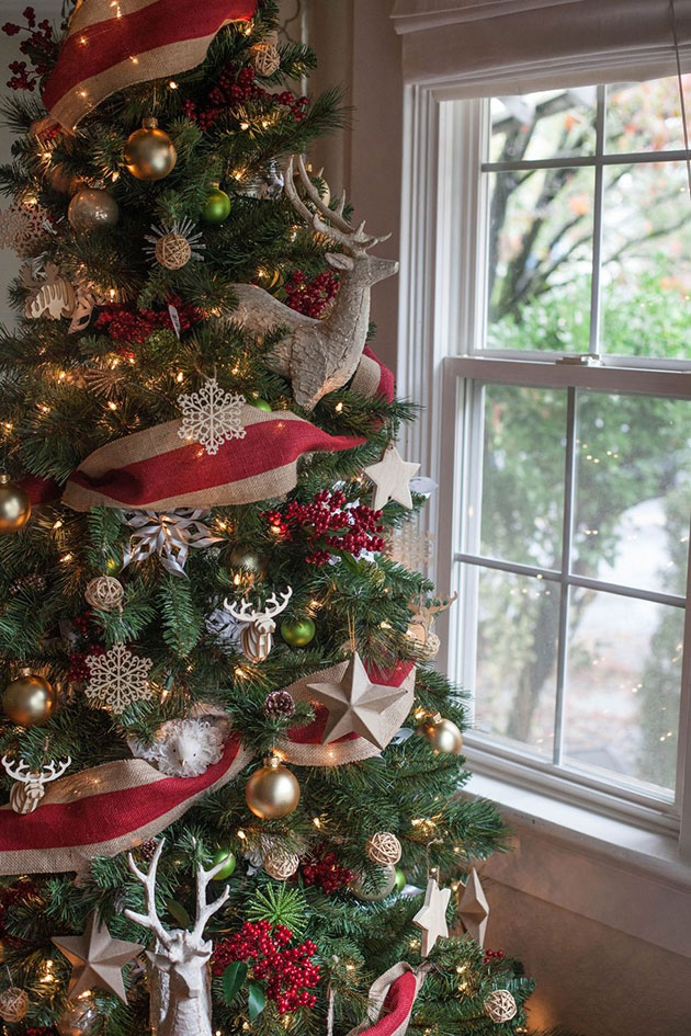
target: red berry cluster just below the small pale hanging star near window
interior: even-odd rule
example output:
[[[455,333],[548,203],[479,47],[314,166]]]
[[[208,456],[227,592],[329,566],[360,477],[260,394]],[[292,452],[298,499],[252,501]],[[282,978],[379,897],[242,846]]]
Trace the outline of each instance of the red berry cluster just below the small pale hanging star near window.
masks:
[[[284,539],[293,542],[302,534],[310,551],[305,560],[310,565],[325,565],[335,550],[346,550],[355,558],[363,550],[383,550],[382,512],[365,504],[346,506],[347,502],[340,490],[322,489],[314,503],[293,500],[285,511],[269,511],[265,517]]]

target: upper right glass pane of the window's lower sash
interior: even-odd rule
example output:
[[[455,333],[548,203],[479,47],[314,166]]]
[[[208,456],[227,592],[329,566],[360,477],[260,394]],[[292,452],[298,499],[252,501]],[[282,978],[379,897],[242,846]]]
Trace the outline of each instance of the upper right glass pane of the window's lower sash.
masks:
[[[683,596],[691,403],[579,392],[577,413],[574,571]]]

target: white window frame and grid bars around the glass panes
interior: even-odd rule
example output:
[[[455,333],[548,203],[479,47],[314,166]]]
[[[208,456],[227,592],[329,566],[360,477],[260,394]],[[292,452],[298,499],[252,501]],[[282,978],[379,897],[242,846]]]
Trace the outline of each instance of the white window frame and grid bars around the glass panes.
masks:
[[[464,555],[457,550],[457,545],[463,543],[463,509],[479,494],[479,486],[469,485],[468,471],[475,471],[479,479],[482,443],[477,442],[480,436],[473,435],[479,422],[477,417],[474,422],[472,410],[478,407],[482,394],[476,388],[483,382],[563,388],[568,390],[571,407],[578,389],[691,399],[691,361],[655,361],[655,369],[650,369],[650,361],[645,358],[605,357],[602,366],[586,366],[557,362],[563,360],[559,354],[525,351],[520,358],[516,353],[508,358],[506,352],[478,350],[486,311],[483,248],[488,178],[482,174],[480,163],[488,150],[489,121],[483,107],[488,101],[444,103],[456,96],[453,82],[406,87],[404,124],[398,385],[403,396],[424,407],[422,419],[408,430],[405,445],[409,456],[419,459],[422,470],[440,486],[422,517],[426,527],[437,537],[438,553],[431,574],[440,592],[446,589],[450,573],[454,583],[451,589],[460,587],[460,572],[464,568],[460,562]],[[673,157],[686,159],[686,152],[675,152]],[[597,156],[588,160],[596,166],[596,193],[600,192],[600,200],[602,170],[611,161],[603,155],[600,118]],[[596,249],[600,235],[601,224],[596,218]],[[597,278],[593,282],[594,298],[599,282]],[[592,352],[596,342],[597,328],[591,326]],[[573,454],[573,443],[567,448]],[[469,451],[475,451],[473,465],[467,464]],[[497,567],[500,568],[501,562]],[[507,567],[513,572],[521,569],[513,563]],[[523,568],[528,576],[540,571],[530,566]],[[564,587],[576,580],[562,576],[556,581]],[[602,590],[621,592],[623,589],[593,582]],[[630,596],[638,595],[635,589],[625,588],[625,591]],[[680,605],[679,599],[671,600],[668,594],[646,593],[645,596]],[[506,782],[507,788],[519,785],[536,792],[551,804],[560,799],[659,832],[675,840],[680,859],[691,858],[691,765],[684,765],[691,748],[691,587],[687,588],[684,605],[673,802],[655,801],[634,789],[613,793],[594,776],[579,775],[576,783],[548,761],[490,743],[471,731],[466,737],[466,754],[473,770]],[[565,600],[563,612],[564,608]],[[564,623],[564,615],[562,621]],[[472,624],[466,624],[464,629],[467,635]],[[440,622],[440,634],[443,650],[439,665],[457,673],[458,652],[463,652],[464,645],[454,644],[450,638],[448,615]],[[466,645],[465,650],[472,652],[473,645]],[[507,798],[510,799],[510,795]]]

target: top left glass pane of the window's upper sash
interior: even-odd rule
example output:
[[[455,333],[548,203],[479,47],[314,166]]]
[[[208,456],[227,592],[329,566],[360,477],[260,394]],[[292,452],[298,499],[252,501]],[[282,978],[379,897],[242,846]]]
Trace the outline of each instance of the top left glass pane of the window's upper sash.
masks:
[[[492,98],[491,162],[592,155],[596,87]]]

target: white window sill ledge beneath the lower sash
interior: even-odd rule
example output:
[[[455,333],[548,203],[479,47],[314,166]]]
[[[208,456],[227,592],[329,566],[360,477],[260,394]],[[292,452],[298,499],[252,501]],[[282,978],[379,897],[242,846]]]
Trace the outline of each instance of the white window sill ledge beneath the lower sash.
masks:
[[[571,851],[691,890],[691,861],[681,856],[673,834],[647,831],[488,774],[473,774],[465,793],[496,802],[517,831],[533,831]]]

